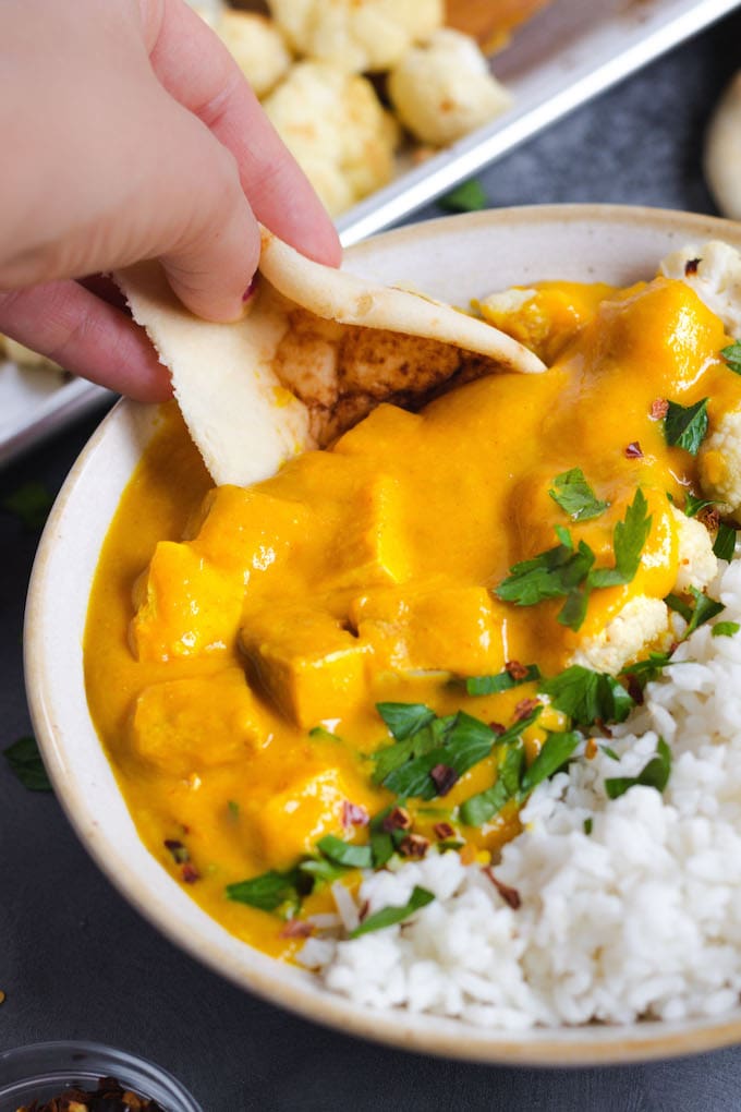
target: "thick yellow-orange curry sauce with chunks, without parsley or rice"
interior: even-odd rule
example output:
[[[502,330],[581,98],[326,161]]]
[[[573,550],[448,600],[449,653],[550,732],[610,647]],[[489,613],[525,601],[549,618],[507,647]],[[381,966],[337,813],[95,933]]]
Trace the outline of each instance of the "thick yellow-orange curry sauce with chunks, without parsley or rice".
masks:
[[[741,405],[721,322],[660,278],[611,294],[544,284],[495,324],[550,369],[469,383],[421,413],[381,405],[330,450],[247,489],[212,488],[164,407],[109,530],[84,644],[93,722],[150,851],[269,953],[297,942],[227,886],[290,868],[327,835],[364,844],[368,817],[400,803],[421,840],[410,854],[453,835],[487,861],[518,832],[513,804],[481,827],[460,818],[495,783],[495,747],[427,798],[400,801],[373,775],[391,742],[378,704],[462,711],[497,732],[522,721],[531,762],[569,723],[528,669],[555,676],[602,652],[628,604],[675,588],[675,507],[699,487],[662,417],[667,399],[708,398],[711,426]],[[574,469],[603,507],[588,519],[553,496]],[[613,567],[639,489],[638,567],[592,589],[580,620],[564,622],[563,597],[500,595],[513,568],[559,544]],[[664,622],[632,656],[670,639]],[[500,675],[513,681],[503,691],[469,694],[470,677]],[[303,914],[331,909],[318,884]]]

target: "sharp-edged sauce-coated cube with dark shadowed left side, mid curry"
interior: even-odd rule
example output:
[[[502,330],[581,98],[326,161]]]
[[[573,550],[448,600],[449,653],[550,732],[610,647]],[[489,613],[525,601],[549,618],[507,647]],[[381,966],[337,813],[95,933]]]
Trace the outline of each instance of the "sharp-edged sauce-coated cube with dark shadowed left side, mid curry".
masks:
[[[244,619],[242,648],[279,711],[310,729],[354,707],[366,687],[368,646],[321,610],[266,610]]]

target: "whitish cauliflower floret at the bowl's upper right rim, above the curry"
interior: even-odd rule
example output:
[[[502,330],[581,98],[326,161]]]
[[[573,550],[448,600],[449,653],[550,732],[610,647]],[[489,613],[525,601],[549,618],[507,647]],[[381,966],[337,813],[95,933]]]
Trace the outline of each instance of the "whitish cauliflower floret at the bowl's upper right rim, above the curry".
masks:
[[[659,265],[667,278],[680,278],[720,317],[729,336],[741,337],[741,254],[719,240],[691,244]]]

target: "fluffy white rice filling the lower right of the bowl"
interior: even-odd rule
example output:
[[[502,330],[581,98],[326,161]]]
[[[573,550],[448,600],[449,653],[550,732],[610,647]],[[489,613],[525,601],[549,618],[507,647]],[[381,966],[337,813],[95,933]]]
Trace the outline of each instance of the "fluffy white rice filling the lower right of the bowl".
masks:
[[[719,620],[741,622],[741,560],[709,590]],[[430,854],[369,875],[369,911],[435,900],[411,922],[352,941],[312,939],[306,963],[362,1006],[405,1006],[509,1030],[640,1016],[714,1015],[741,993],[741,634],[702,626],[645,703],[614,731],[619,763],[600,752],[533,792],[525,830],[495,876]],[[661,796],[604,780],[635,775],[658,737],[673,755]],[[587,834],[584,820],[591,818]],[[340,909],[347,920],[347,909]]]

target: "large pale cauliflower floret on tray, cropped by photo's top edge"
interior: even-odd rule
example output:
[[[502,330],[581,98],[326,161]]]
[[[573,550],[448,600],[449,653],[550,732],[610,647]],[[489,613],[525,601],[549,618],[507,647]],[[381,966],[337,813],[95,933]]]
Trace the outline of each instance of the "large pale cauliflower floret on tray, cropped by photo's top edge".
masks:
[[[269,7],[297,53],[350,73],[395,66],[444,19],[443,0],[269,0]]]

